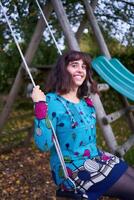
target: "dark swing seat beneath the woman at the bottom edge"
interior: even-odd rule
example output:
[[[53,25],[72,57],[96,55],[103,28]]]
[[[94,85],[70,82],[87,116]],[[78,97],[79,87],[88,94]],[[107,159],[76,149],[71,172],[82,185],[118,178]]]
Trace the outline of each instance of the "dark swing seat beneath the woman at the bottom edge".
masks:
[[[72,199],[72,200],[87,200],[86,197],[83,197],[81,193],[75,193],[75,191],[65,191],[58,189],[56,190],[56,197],[58,198],[65,198],[65,199]]]

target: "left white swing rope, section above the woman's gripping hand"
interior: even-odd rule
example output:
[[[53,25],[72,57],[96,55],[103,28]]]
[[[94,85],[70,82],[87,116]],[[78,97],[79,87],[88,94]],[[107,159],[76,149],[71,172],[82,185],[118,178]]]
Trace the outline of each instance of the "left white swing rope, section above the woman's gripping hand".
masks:
[[[35,87],[35,82],[34,82],[34,80],[33,80],[33,77],[32,77],[32,75],[31,75],[31,72],[30,72],[30,70],[29,70],[29,67],[28,67],[28,65],[27,65],[27,63],[26,63],[26,60],[25,60],[25,58],[24,58],[24,55],[23,55],[23,53],[22,53],[22,51],[21,51],[21,48],[20,48],[20,46],[19,46],[18,40],[17,40],[17,38],[16,38],[16,36],[15,36],[15,33],[14,33],[14,31],[13,31],[13,28],[12,28],[12,26],[11,26],[11,23],[9,22],[9,19],[8,19],[7,15],[6,15],[6,12],[5,12],[5,10],[4,10],[4,7],[3,7],[1,1],[0,1],[0,6],[1,6],[1,8],[2,8],[3,14],[4,14],[5,19],[6,19],[6,21],[7,21],[7,24],[8,24],[8,26],[9,26],[9,28],[10,28],[10,31],[11,31],[11,33],[12,33],[12,36],[13,36],[14,41],[15,41],[15,43],[16,43],[16,46],[17,46],[17,48],[18,48],[18,50],[19,50],[19,52],[20,52],[20,55],[21,55],[21,58],[22,58],[22,60],[23,60],[24,65],[25,65],[26,71],[27,71],[27,73],[28,73],[28,75],[29,75],[29,77],[30,77],[30,79],[31,79],[31,81],[32,81],[33,86]]]

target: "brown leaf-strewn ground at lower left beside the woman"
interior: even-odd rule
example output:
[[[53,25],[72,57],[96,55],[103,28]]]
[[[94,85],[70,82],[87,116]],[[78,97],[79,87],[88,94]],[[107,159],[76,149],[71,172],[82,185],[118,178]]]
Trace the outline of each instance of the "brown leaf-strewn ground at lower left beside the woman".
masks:
[[[1,154],[0,199],[56,200],[49,154],[32,147],[17,148]]]

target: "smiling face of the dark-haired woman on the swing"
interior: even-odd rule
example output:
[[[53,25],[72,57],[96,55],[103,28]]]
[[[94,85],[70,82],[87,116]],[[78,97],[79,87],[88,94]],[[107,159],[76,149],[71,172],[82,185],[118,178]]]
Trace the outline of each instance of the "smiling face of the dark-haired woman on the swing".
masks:
[[[86,65],[83,63],[83,60],[69,62],[67,71],[72,77],[72,88],[81,86],[86,78]]]

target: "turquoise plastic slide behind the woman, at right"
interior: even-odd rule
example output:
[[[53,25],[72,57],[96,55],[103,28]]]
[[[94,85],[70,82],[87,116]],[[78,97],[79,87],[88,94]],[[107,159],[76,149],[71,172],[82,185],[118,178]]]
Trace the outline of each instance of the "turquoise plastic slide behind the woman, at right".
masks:
[[[134,100],[134,74],[118,59],[99,56],[92,61],[92,67],[111,87]]]

